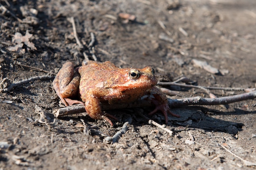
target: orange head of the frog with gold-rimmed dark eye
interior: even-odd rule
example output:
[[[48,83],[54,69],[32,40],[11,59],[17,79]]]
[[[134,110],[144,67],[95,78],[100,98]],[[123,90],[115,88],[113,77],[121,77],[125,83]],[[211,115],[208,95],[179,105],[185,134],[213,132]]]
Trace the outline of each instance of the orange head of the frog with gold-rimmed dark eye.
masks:
[[[123,72],[122,83],[115,85],[114,88],[119,89],[120,91],[131,90],[131,89],[143,89],[146,91],[147,89],[151,89],[151,87],[157,84],[157,79],[155,78],[155,70],[146,66],[142,69],[136,68],[127,68],[126,71]],[[136,90],[135,90],[136,91]]]

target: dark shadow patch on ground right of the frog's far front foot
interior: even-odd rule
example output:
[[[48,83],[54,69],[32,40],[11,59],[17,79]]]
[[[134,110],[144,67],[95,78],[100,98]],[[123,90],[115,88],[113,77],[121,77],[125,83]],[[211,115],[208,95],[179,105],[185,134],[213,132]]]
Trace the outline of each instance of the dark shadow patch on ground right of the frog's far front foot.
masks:
[[[169,123],[168,126],[189,126],[192,128],[203,129],[204,131],[218,131],[236,135],[239,131],[242,131],[243,123],[239,123],[234,120],[227,121],[209,116],[212,115],[246,115],[248,113],[256,113],[256,111],[244,111],[235,108],[235,111],[219,111],[215,109],[209,109],[202,106],[187,106],[182,108],[171,109],[173,113],[180,115],[180,118],[175,118],[168,115]],[[162,117],[164,121],[164,116],[160,113],[158,116]],[[171,122],[171,123],[170,123]]]

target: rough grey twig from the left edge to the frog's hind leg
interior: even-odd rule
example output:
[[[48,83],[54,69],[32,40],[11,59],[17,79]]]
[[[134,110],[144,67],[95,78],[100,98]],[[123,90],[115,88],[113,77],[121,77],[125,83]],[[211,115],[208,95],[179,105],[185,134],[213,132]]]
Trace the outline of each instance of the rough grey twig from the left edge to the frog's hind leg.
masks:
[[[34,77],[30,77],[28,79],[22,80],[22,81],[18,81],[16,83],[11,84],[9,87],[5,88],[5,89],[0,89],[0,92],[9,92],[11,91],[13,88],[19,86],[19,85],[23,85],[23,84],[27,84],[31,81],[35,81],[35,80],[49,80],[54,78],[55,76],[49,76],[49,75],[44,75],[44,76],[34,76]]]

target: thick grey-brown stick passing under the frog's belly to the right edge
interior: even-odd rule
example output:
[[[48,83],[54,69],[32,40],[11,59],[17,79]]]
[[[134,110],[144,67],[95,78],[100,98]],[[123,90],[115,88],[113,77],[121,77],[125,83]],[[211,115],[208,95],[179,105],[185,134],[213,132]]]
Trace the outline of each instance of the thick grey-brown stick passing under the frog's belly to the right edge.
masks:
[[[168,99],[168,105],[170,107],[182,107],[188,105],[227,105],[233,102],[239,102],[243,100],[249,100],[256,98],[256,91],[247,92],[243,94],[237,94],[234,96],[225,96],[220,98],[202,98],[200,96],[182,99]],[[136,100],[132,103],[116,103],[113,105],[102,105],[103,110],[132,108],[132,107],[149,107],[151,103],[146,100]],[[66,115],[83,113],[85,112],[84,106],[74,105],[69,107],[56,108],[53,110],[53,114],[56,118],[60,118]]]

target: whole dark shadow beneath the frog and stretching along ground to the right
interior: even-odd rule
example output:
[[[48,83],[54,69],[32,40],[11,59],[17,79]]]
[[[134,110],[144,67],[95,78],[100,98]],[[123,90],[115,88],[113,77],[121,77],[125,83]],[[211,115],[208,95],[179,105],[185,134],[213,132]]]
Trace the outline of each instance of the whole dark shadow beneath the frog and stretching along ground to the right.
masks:
[[[135,111],[132,111],[135,109]],[[136,110],[139,108],[133,108],[133,109],[115,109],[115,110],[109,110],[107,111],[113,116],[116,116],[119,120],[122,122],[129,122],[133,126],[142,126],[147,122],[145,118],[139,116],[137,114]],[[172,117],[171,115],[168,115],[168,126],[173,126],[173,129],[178,126],[189,126],[190,128],[198,128],[202,129],[204,131],[218,131],[218,132],[224,132],[229,133],[232,135],[236,135],[239,131],[242,131],[242,127],[244,126],[243,123],[238,122],[231,122],[226,120],[220,120],[217,118],[213,118],[209,116],[209,114],[213,115],[225,115],[225,116],[231,116],[231,115],[240,115],[240,114],[248,114],[248,113],[256,113],[256,111],[244,111],[241,109],[235,109],[235,111],[219,111],[215,109],[209,109],[207,107],[201,107],[201,106],[187,106],[182,108],[174,108],[171,109],[173,113],[180,115],[180,118]],[[156,113],[153,116],[148,116],[146,113],[149,113],[150,109],[144,110],[144,115],[148,118],[158,122],[159,124],[164,124],[164,116],[162,113]],[[86,124],[95,124],[95,120],[90,118],[88,115],[83,116],[81,114],[77,114],[74,116],[65,116],[62,117],[61,120],[74,120],[77,122],[80,122],[80,120],[85,120]],[[99,120],[102,121],[102,120]],[[162,122],[161,122],[162,121]],[[122,126],[123,123],[121,122],[115,122],[112,121],[115,126]]]

